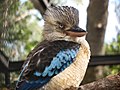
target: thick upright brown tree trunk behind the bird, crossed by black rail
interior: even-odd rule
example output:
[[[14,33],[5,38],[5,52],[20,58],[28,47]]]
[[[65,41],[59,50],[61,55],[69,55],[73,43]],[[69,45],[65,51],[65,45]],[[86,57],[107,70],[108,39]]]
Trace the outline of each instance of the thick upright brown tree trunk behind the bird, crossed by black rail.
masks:
[[[92,55],[104,54],[104,37],[108,18],[109,0],[90,0],[87,8],[87,41]],[[83,83],[96,80],[95,68],[88,68]]]

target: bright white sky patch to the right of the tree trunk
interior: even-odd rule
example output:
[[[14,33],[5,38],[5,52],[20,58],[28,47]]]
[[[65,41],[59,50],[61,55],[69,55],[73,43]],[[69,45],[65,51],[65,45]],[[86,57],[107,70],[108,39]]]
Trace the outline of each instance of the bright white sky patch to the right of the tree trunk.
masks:
[[[108,23],[106,28],[106,35],[105,35],[105,42],[111,42],[113,38],[116,38],[117,31],[116,26],[119,26],[118,20],[115,13],[115,4],[114,0],[109,1],[109,16],[108,16]]]

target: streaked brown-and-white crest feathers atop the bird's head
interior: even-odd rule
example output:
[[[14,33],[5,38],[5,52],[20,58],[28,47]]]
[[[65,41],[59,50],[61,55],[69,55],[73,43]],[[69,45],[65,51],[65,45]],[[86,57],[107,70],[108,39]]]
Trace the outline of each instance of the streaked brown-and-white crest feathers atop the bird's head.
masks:
[[[44,15],[45,22],[55,23],[61,22],[70,24],[72,26],[78,25],[79,23],[79,12],[74,7],[68,6],[56,6],[46,10]]]

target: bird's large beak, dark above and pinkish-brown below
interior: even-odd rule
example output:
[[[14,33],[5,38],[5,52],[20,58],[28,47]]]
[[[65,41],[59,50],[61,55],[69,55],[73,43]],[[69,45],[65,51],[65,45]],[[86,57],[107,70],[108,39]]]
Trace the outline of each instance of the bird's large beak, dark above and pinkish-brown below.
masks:
[[[73,37],[82,37],[87,34],[85,30],[83,30],[82,28],[78,26],[75,26],[69,30],[66,30],[65,32],[67,35],[73,36]]]

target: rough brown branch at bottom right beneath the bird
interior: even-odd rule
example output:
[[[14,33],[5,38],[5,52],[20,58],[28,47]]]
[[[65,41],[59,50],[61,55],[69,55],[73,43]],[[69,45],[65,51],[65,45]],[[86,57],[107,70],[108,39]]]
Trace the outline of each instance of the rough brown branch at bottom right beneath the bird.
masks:
[[[120,73],[81,85],[79,88],[70,87],[66,90],[120,90]]]

